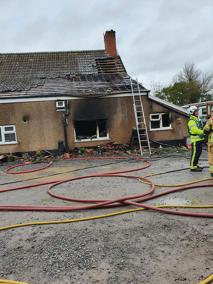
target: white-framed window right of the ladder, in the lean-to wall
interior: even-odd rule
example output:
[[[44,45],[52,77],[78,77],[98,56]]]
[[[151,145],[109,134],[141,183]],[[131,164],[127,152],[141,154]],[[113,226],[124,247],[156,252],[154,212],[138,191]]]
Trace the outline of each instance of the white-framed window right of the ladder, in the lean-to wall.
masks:
[[[171,113],[150,114],[150,130],[172,129]]]

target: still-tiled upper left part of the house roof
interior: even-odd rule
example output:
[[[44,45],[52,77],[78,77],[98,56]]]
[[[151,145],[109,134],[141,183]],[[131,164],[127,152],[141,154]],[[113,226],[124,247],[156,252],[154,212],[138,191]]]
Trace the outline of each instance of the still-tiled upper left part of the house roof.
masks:
[[[0,54],[0,91],[21,91],[43,85],[46,78],[98,74],[95,59],[105,50]]]

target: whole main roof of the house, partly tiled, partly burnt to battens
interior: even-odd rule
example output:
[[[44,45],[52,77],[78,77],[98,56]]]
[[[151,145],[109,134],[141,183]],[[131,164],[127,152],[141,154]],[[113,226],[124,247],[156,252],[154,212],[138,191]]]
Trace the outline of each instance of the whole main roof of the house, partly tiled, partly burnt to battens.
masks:
[[[97,96],[131,91],[120,56],[109,57],[106,50],[0,54],[0,78],[1,96]]]

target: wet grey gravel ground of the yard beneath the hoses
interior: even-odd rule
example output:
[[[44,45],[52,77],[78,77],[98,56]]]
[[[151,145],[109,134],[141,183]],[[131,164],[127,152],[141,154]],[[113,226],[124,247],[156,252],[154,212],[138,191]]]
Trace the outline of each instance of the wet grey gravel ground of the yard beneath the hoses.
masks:
[[[207,159],[203,152],[201,158]],[[90,165],[111,163],[112,160],[75,160],[54,162],[51,167],[28,174],[4,173],[0,167],[0,189],[57,180],[78,175],[112,172],[141,167],[144,163],[122,162],[97,168],[55,175]],[[185,158],[165,158],[151,166],[130,172],[148,175],[188,167]],[[208,165],[207,161],[201,161]],[[43,167],[46,163],[26,165],[14,170]],[[161,184],[176,184],[209,177],[209,170],[189,170],[153,176]],[[23,181],[28,178],[36,180]],[[43,178],[42,178],[43,177]],[[205,183],[205,182],[204,182]],[[212,180],[206,183],[212,183]],[[46,193],[47,185],[1,193],[1,204],[72,206],[78,202],[53,198]],[[113,199],[145,193],[150,186],[136,179],[99,177],[75,180],[52,188],[54,193],[87,199]],[[169,188],[156,187],[155,193]],[[146,204],[213,204],[212,187],[194,188],[146,201]],[[8,212],[1,211],[0,227],[25,222],[69,220],[133,209],[133,206],[73,212]],[[180,211],[212,213],[211,208]],[[133,284],[195,284],[213,273],[212,219],[138,211],[111,217],[65,224],[33,225],[0,231],[0,278],[33,284],[68,283],[133,283]]]

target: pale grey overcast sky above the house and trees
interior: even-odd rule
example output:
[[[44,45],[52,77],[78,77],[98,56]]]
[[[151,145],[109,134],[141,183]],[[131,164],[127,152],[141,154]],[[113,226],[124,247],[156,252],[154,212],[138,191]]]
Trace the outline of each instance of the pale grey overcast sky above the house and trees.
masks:
[[[0,53],[104,49],[116,31],[130,76],[168,85],[185,61],[213,71],[212,0],[0,0]],[[149,88],[149,85],[144,85]]]

